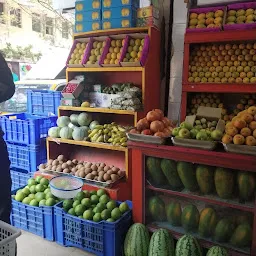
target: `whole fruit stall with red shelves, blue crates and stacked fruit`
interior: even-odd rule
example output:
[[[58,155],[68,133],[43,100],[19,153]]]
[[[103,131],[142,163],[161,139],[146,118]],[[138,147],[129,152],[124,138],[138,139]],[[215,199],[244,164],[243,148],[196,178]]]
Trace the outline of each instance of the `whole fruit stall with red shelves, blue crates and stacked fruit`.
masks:
[[[186,1],[176,120],[161,109],[161,32],[140,26],[157,1],[89,2],[63,91],[1,117],[12,224],[100,256],[256,256],[256,4]]]

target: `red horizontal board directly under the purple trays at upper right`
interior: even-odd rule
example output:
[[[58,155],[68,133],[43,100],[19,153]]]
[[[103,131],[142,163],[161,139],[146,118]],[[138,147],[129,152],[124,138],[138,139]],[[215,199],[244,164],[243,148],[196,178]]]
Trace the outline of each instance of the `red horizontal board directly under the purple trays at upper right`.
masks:
[[[256,30],[230,30],[206,33],[186,33],[186,44],[249,41],[256,39]]]

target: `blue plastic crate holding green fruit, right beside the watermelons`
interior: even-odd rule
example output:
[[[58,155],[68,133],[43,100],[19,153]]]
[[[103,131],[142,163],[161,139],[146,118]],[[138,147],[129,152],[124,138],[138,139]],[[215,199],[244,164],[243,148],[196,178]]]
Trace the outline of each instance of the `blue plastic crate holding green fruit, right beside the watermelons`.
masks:
[[[130,208],[132,203],[126,201]],[[132,224],[132,212],[125,213],[116,222],[93,222],[67,214],[62,203],[54,206],[56,242],[73,246],[98,256],[122,255],[125,235]]]

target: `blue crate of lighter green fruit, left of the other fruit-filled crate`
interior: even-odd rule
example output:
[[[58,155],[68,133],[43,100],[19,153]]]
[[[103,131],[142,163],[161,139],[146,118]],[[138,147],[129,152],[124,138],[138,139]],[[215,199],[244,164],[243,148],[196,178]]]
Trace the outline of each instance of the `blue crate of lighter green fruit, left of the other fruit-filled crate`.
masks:
[[[12,191],[12,195],[17,190]],[[53,209],[54,207],[51,206],[30,206],[12,199],[11,224],[16,228],[54,241]]]

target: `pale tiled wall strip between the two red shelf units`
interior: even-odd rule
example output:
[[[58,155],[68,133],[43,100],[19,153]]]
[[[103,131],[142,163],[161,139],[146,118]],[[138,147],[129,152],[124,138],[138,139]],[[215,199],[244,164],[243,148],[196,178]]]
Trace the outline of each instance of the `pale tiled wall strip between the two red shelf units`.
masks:
[[[174,0],[173,32],[172,32],[172,59],[170,74],[170,91],[168,117],[179,120],[182,70],[184,53],[184,33],[187,21],[187,6],[182,0]]]

